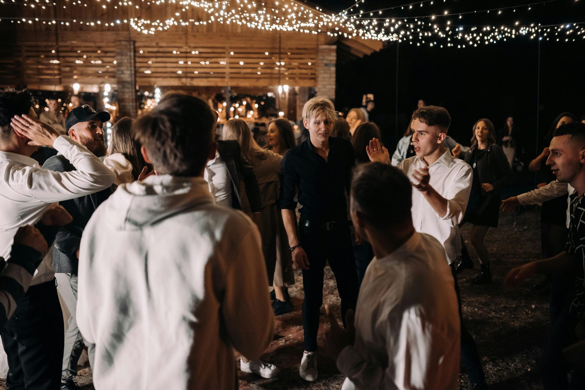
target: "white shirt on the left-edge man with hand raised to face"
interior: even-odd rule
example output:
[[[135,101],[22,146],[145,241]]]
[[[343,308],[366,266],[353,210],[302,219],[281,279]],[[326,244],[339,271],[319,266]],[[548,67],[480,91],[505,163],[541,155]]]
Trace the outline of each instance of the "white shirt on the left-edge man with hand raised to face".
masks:
[[[113,183],[112,171],[67,135],[57,137],[53,147],[77,170],[54,172],[40,168],[30,157],[0,152],[0,256],[8,257],[18,228],[39,222],[52,203],[92,194]],[[51,248],[35,271],[31,285],[53,277]]]

